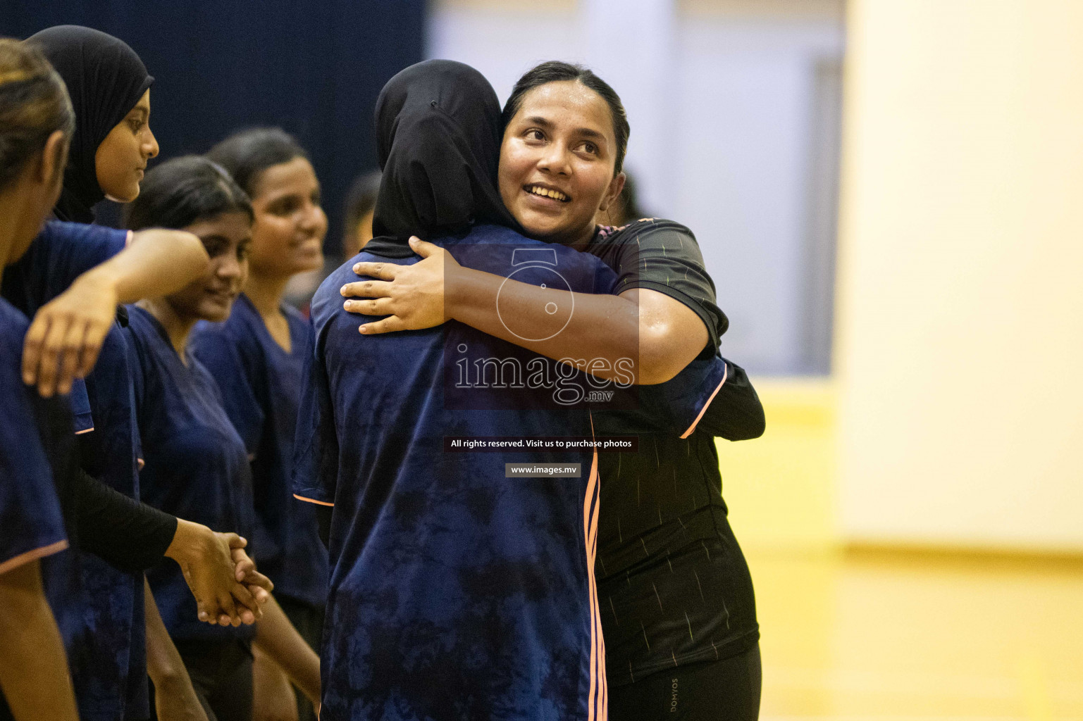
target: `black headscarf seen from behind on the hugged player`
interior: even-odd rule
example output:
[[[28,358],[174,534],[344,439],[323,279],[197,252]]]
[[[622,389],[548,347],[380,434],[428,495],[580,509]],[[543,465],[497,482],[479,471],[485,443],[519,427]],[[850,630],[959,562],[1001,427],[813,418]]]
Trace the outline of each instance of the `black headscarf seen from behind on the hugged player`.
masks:
[[[522,232],[497,189],[500,102],[469,65],[426,61],[383,86],[376,143],[383,176],[365,250],[406,258],[409,236],[458,234],[471,223]]]

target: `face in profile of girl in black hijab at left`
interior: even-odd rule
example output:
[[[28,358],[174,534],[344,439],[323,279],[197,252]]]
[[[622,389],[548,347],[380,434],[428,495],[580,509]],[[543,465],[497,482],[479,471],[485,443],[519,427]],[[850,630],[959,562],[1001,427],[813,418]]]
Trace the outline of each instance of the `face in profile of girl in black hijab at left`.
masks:
[[[151,132],[149,121],[151,91],[147,90],[94,152],[97,185],[109,200],[131,202],[139,197],[139,184],[147,160],[158,155],[158,141]]]

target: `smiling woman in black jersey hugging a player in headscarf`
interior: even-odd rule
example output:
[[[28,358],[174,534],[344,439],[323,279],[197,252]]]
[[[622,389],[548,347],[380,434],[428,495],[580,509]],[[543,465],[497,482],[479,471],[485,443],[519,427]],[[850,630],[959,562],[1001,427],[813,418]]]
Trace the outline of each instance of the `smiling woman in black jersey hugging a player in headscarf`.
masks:
[[[629,127],[612,88],[584,68],[544,63],[517,83],[504,121],[499,188],[508,210],[531,237],[602,258],[618,276],[613,292],[576,296],[576,313],[558,337],[527,342],[493,312],[496,299],[521,299],[520,322],[539,324],[546,302],[558,300],[552,289],[458,268],[445,251],[417,242],[425,260],[404,271],[358,264],[358,274],[390,283],[343,288],[345,296],[377,298],[348,302],[349,310],[389,316],[364,324],[362,332],[454,318],[552,358],[635,357],[637,382],[650,384],[641,386],[647,397],[661,388],[654,384],[713,357],[728,320],[692,233],[653,219],[595,226],[624,181]],[[445,280],[453,284],[446,292]],[[726,365],[714,402],[682,433],[643,434],[639,453],[600,458],[597,573],[610,611],[602,617],[610,703],[621,721],[758,713],[752,579],[726,520],[712,436],[756,437],[764,417],[744,371]],[[619,414],[599,414],[597,430],[648,429]],[[675,678],[682,692],[671,706]]]

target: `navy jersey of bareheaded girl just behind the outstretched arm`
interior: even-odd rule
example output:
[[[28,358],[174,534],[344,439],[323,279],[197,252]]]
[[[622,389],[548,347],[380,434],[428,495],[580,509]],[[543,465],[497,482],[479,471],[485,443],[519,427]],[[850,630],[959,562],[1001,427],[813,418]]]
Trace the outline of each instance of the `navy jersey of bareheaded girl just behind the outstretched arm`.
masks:
[[[233,428],[218,385],[191,352],[182,362],[165,328],[128,306],[128,351],[145,466],[140,493],[147,503],[213,530],[251,541],[252,488],[245,444]],[[253,551],[258,552],[255,548]],[[210,626],[180,566],[165,560],[146,574],[161,619],[174,639],[251,638],[251,626]]]

